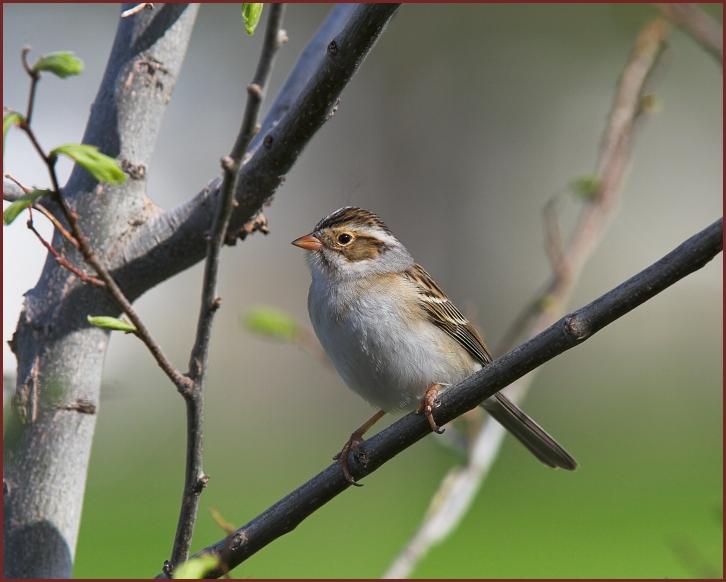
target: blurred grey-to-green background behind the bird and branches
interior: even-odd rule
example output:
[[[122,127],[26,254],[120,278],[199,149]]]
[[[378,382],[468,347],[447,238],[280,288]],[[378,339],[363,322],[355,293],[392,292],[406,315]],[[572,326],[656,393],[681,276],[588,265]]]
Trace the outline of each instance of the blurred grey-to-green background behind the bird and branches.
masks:
[[[720,6],[707,9],[719,20]],[[329,10],[292,5],[270,95]],[[3,103],[21,107],[20,48],[74,50],[77,79],[44,80],[45,144],[80,140],[113,40],[113,5],[3,6]],[[370,414],[336,375],[294,347],[252,336],[239,316],[270,304],[307,324],[309,275],[289,241],[345,204],[380,213],[494,345],[548,274],[541,209],[592,171],[615,83],[646,5],[404,6],[343,94],[255,235],[223,254],[207,388],[211,476],[194,538],[222,535],[330,461]],[[238,5],[200,9],[167,112],[149,192],[181,203],[218,172],[234,139],[261,34]],[[658,259],[722,214],[722,76],[675,31],[653,80],[662,111],[638,132],[620,212],[572,306]],[[213,89],[213,90],[210,90]],[[44,174],[19,135],[6,170]],[[67,172],[67,168],[63,168]],[[565,206],[563,227],[578,202]],[[4,230],[4,339],[44,253]],[[461,527],[420,577],[721,577],[722,259],[544,366],[525,408],[580,462],[550,471],[508,439]],[[138,309],[186,361],[199,266]],[[4,347],[4,369],[15,362]],[[75,575],[148,577],[168,557],[181,495],[183,405],[133,337],[115,335],[88,475]],[[457,462],[424,439],[233,572],[236,577],[377,577]]]

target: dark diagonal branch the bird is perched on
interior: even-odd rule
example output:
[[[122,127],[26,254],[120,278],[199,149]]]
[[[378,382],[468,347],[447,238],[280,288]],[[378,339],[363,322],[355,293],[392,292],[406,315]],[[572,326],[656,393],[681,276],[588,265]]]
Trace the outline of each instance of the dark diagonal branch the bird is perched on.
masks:
[[[441,395],[436,419],[446,424],[478,406],[497,391],[565,352],[642,305],[680,279],[702,268],[723,249],[723,219],[695,234],[659,261],[566,315],[531,340],[497,358]],[[350,459],[356,481],[431,433],[427,420],[410,413],[365,441]],[[306,517],[350,487],[338,463],[289,493],[232,535],[195,554],[213,554],[219,565],[208,576],[220,576],[292,531]]]

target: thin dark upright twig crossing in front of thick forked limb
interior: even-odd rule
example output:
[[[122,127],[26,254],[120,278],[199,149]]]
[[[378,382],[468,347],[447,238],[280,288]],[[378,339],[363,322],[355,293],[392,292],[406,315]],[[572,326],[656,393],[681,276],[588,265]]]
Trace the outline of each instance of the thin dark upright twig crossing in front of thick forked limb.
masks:
[[[216,295],[219,256],[224,244],[229,219],[234,209],[239,171],[243,165],[243,155],[256,133],[257,118],[262,104],[264,88],[272,71],[277,49],[282,44],[280,27],[284,12],[283,4],[269,7],[267,27],[260,59],[253,82],[247,87],[247,105],[242,118],[242,126],[229,156],[222,159],[224,177],[217,201],[207,246],[207,258],[204,264],[204,280],[202,283],[202,301],[199,309],[199,320],[194,345],[189,358],[188,376],[192,380],[190,390],[183,392],[187,404],[187,456],[184,479],[184,493],[179,512],[176,535],[172,548],[171,559],[167,570],[183,562],[189,556],[194,524],[199,508],[199,497],[208,477],[204,474],[203,463],[203,386],[207,370],[209,341],[211,338],[214,314],[219,308],[220,299]]]

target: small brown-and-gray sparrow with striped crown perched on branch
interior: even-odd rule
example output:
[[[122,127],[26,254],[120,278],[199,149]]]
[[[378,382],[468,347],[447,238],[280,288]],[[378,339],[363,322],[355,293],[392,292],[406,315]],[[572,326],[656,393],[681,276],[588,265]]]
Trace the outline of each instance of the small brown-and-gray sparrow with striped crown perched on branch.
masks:
[[[353,431],[349,453],[386,413],[424,414],[431,430],[438,395],[492,362],[482,336],[373,212],[345,206],[292,244],[307,251],[308,313],[315,334],[345,384],[379,411]],[[501,392],[481,405],[534,456],[573,470],[575,459]]]

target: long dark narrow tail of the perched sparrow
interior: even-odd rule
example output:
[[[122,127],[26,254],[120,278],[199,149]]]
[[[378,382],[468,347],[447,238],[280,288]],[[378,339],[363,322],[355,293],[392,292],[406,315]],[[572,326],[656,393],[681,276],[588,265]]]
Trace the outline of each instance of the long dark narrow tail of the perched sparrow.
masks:
[[[568,471],[577,467],[577,461],[555,439],[501,392],[485,400],[482,407],[545,465]]]

